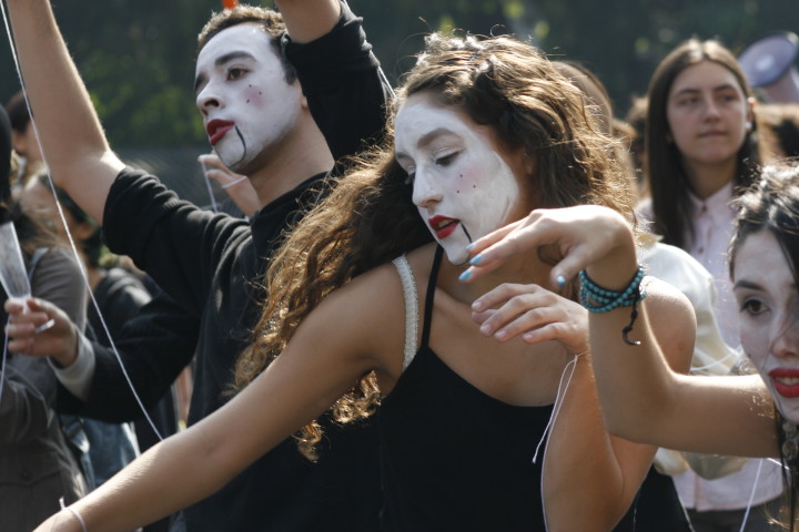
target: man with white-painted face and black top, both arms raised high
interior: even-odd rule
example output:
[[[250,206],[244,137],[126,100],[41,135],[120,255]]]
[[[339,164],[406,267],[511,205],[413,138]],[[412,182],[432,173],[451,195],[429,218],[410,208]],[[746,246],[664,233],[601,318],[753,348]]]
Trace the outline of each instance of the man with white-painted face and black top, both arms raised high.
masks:
[[[132,256],[174,298],[161,299],[131,324],[132,337],[125,332],[122,342],[123,361],[145,403],[160,397],[199,341],[190,423],[226,400],[233,364],[257,317],[261,293],[252,282],[263,274],[282,232],[317,198],[315,185],[334,157],[354,153],[382,130],[388,91],[360,19],[338,0],[279,6],[291,39],[279,14],[244,7],[214,17],[200,37],[198,108],[216,153],[256,191],[262,208],[247,225],[180,202],[154,177],[125,168],[103,137],[49,2],[10,3],[54,178],[103,221],[109,246]],[[362,109],[364,100],[374,100],[371,109],[378,111],[347,112]],[[82,375],[90,366],[88,386],[83,377],[70,388],[77,397],[64,402],[105,419],[140,415],[113,356],[91,347],[81,341],[80,354],[70,349],[53,357],[69,369],[82,365]],[[380,488],[372,429],[331,424],[326,436],[335,453],[327,457],[322,449],[322,460],[313,464],[294,440],[284,441],[188,509],[186,530],[375,530]]]

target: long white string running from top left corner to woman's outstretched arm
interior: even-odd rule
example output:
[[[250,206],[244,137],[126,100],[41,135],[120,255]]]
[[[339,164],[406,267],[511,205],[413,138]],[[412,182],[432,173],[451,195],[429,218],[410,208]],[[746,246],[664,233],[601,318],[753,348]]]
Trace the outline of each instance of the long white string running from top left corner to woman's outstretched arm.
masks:
[[[6,25],[6,34],[9,39],[9,44],[11,47],[11,57],[13,58],[14,68],[17,69],[17,76],[20,80],[20,86],[22,88],[22,95],[24,96],[26,106],[28,108],[28,114],[30,115],[30,123],[33,127],[33,132],[36,133],[37,144],[39,145],[39,152],[41,153],[42,161],[44,162],[44,166],[49,168],[49,165],[47,163],[47,155],[44,153],[44,150],[41,147],[41,143],[39,142],[39,129],[37,126],[37,122],[34,120],[33,113],[31,112],[30,101],[28,100],[28,91],[26,89],[24,79],[22,78],[22,70],[20,69],[19,64],[19,57],[17,54],[17,47],[13,40],[13,35],[11,34],[11,27],[9,24],[9,18],[8,13],[6,11],[6,2],[0,0],[0,10],[2,10],[3,16],[3,24]],[[63,208],[61,208],[61,203],[58,200],[58,194],[55,193],[55,183],[53,183],[52,175],[50,172],[48,172],[48,183],[50,184],[50,191],[52,192],[53,198],[55,200],[55,207],[59,213],[59,217],[61,219],[61,225],[63,225],[64,231],[67,233],[67,239],[70,243],[70,247],[72,248],[72,254],[75,257],[75,262],[78,263],[78,266],[80,267],[81,275],[83,276],[83,282],[89,290],[89,297],[92,300],[92,305],[94,305],[94,309],[97,310],[98,317],[100,318],[100,324],[102,325],[103,330],[105,331],[105,336],[109,339],[109,344],[111,345],[111,349],[113,350],[114,356],[117,357],[117,361],[120,365],[120,368],[122,369],[122,375],[125,378],[125,381],[128,382],[128,386],[130,387],[131,391],[133,392],[133,397],[136,400],[136,403],[139,405],[139,408],[141,409],[142,413],[144,415],[144,418],[150,423],[150,427],[152,428],[153,432],[158,437],[159,440],[163,440],[163,437],[161,436],[161,432],[155,428],[155,423],[153,422],[152,418],[150,418],[150,415],[148,413],[146,409],[144,408],[144,403],[142,402],[141,398],[139,397],[139,393],[136,393],[135,387],[133,386],[133,382],[130,379],[130,376],[128,375],[128,370],[124,367],[124,364],[122,362],[122,357],[120,356],[119,351],[117,350],[117,346],[113,341],[113,338],[111,338],[111,332],[109,331],[108,325],[105,325],[105,319],[102,316],[102,313],[100,311],[100,306],[97,303],[97,299],[94,298],[94,294],[92,294],[91,285],[89,283],[89,276],[87,275],[85,268],[83,267],[83,262],[80,258],[80,254],[78,253],[78,247],[75,246],[75,243],[72,238],[72,234],[69,231],[69,226],[67,225],[67,218],[63,214]],[[4,361],[6,361],[6,355],[3,352],[3,372],[0,375],[0,383],[2,380],[4,380]]]

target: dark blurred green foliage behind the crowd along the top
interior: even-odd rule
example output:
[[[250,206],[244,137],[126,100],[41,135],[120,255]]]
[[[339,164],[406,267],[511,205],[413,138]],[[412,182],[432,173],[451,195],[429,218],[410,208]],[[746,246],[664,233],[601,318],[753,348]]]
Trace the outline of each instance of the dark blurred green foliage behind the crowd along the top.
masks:
[[[257,2],[271,6],[271,2]],[[431,30],[514,33],[554,58],[584,62],[607,84],[618,114],[646,92],[657,62],[690,38],[734,52],[796,30],[796,0],[351,0],[393,82]],[[204,144],[194,108],[195,35],[220,0],[53,0],[62,32],[114,146]],[[0,47],[0,100],[19,89]]]

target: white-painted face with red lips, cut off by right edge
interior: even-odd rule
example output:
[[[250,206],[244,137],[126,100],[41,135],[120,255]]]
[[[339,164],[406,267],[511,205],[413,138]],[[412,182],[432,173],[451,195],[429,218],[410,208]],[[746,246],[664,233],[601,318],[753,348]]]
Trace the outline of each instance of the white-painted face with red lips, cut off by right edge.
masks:
[[[741,347],[782,416],[799,422],[799,294],[777,238],[751,234],[735,257]]]

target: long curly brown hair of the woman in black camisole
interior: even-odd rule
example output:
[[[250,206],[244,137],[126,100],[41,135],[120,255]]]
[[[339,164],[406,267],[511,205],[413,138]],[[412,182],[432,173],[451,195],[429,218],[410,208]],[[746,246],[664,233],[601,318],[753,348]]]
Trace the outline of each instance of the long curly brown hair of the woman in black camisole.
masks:
[[[253,344],[237,361],[237,387],[263,371],[327,294],[433,241],[393,152],[393,117],[421,92],[490,126],[508,151],[523,149],[535,157],[535,207],[598,204],[633,219],[629,178],[615,161],[614,141],[597,132],[580,91],[542,53],[508,37],[431,34],[394,103],[386,143],[337,181],[272,258],[269,297]],[[335,403],[333,418],[362,419],[378,401],[374,375],[363,376]],[[314,457],[321,436],[317,423],[297,434],[306,457]]]

